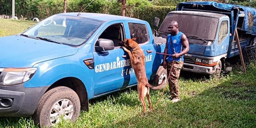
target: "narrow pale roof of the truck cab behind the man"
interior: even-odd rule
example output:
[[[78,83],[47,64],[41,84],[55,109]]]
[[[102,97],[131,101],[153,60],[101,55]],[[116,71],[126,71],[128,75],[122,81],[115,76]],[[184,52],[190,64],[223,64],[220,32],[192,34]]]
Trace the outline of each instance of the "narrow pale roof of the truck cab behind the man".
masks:
[[[189,15],[201,15],[201,16],[206,16],[206,17],[227,17],[227,15],[222,15],[218,13],[212,13],[212,12],[198,12],[198,11],[172,11],[169,13],[178,13],[178,14],[189,14]]]

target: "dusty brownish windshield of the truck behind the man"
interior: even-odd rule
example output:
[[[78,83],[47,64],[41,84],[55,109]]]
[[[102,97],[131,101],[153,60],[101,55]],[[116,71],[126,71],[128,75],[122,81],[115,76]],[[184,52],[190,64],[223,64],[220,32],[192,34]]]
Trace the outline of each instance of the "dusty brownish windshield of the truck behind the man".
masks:
[[[215,39],[218,28],[218,18],[171,13],[168,14],[166,19],[163,21],[159,29],[160,33],[167,32],[167,25],[172,20],[178,22],[180,32],[186,34],[188,39],[193,39],[193,44],[197,44],[195,39],[200,40],[198,41],[198,44],[201,44],[201,41],[205,43],[205,41],[213,41]],[[189,41],[189,43],[192,42]]]

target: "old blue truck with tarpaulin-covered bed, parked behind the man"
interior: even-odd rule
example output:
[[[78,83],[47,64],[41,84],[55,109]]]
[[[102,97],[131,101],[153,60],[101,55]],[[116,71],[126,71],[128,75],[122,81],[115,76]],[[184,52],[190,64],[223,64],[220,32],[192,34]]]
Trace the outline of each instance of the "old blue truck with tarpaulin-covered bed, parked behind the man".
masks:
[[[237,29],[241,48],[255,45],[256,9],[215,2],[186,2],[169,12],[159,28],[166,38],[167,24],[176,20],[179,30],[189,40],[189,52],[184,55],[184,71],[220,74],[226,69],[225,59],[239,55],[235,37]]]

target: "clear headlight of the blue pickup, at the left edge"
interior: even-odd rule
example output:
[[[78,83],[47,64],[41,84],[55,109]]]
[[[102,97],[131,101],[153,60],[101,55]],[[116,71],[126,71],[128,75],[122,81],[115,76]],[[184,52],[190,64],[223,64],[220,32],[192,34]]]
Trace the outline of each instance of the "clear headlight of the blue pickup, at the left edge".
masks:
[[[20,84],[28,81],[37,68],[6,68],[0,74],[0,85]]]

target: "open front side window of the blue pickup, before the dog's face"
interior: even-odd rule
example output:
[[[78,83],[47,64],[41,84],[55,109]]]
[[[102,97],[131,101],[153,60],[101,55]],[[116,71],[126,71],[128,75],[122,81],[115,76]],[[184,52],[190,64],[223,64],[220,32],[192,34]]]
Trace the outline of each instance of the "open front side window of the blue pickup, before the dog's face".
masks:
[[[115,47],[119,47],[119,41],[124,40],[124,31],[122,23],[108,26],[107,29],[102,32],[99,38],[109,39],[114,42]]]

